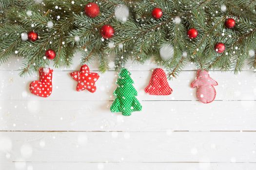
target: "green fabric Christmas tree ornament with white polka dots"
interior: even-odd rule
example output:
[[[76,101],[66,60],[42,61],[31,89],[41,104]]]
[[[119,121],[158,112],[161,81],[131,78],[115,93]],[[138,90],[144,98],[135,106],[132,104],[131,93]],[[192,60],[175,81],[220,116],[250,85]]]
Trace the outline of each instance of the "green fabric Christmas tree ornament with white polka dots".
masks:
[[[130,77],[131,73],[122,68],[118,74],[116,84],[117,89],[114,91],[116,99],[110,107],[112,113],[121,112],[123,116],[130,116],[132,112],[141,111],[142,106],[135,97],[138,95],[133,84],[134,81]]]

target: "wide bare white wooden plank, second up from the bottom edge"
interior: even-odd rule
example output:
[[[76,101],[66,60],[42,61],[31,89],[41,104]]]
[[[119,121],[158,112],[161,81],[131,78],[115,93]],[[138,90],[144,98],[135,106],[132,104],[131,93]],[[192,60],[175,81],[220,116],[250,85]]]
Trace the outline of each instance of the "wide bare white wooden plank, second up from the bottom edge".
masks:
[[[0,153],[0,160],[7,162],[256,163],[255,132],[1,132],[0,136],[5,139],[1,150],[8,150]]]

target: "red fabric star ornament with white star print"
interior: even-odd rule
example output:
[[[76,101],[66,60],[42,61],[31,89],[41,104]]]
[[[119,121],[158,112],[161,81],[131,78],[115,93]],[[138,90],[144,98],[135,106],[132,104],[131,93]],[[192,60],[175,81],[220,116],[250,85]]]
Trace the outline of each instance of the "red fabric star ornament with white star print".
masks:
[[[77,91],[87,89],[91,93],[96,91],[95,82],[98,80],[98,73],[90,72],[87,65],[82,65],[80,71],[70,73],[71,77],[78,82]]]

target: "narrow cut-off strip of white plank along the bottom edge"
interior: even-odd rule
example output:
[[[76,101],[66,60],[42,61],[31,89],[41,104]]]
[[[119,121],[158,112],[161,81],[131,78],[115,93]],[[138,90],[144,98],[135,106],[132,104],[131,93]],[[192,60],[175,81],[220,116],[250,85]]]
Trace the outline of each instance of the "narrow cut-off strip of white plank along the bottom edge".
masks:
[[[4,162],[0,170],[255,170],[254,163],[56,163]]]

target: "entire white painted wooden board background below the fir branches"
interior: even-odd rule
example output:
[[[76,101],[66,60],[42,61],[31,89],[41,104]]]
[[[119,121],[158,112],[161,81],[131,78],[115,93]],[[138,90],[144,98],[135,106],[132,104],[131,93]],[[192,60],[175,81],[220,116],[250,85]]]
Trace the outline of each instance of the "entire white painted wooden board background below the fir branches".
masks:
[[[256,74],[211,71],[218,82],[216,101],[203,104],[190,83],[188,65],[169,81],[170,96],[144,93],[157,66],[126,65],[143,111],[113,114],[117,72],[102,74],[97,92],[76,91],[69,73],[54,69],[49,98],[30,94],[38,73],[19,77],[22,63],[0,66],[0,170],[255,170]],[[90,64],[98,72],[98,64]]]

